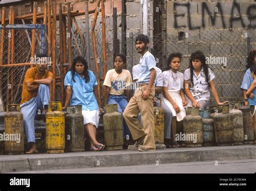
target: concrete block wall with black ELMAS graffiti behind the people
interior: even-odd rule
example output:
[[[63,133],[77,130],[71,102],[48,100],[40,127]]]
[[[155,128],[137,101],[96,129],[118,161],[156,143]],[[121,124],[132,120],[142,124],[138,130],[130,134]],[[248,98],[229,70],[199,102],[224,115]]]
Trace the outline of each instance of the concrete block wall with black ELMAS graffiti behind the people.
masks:
[[[127,32],[140,32],[140,1],[127,0]],[[211,64],[215,84],[223,99],[241,97],[240,83],[247,58],[247,37],[256,49],[256,2],[240,1],[161,1],[159,6],[162,31],[165,34],[161,53],[155,57],[166,66],[171,52],[184,55],[181,71],[189,65],[190,54],[196,50],[206,56],[226,57],[227,65]],[[150,1],[150,33],[153,31],[153,1]],[[135,63],[136,64],[136,63]]]

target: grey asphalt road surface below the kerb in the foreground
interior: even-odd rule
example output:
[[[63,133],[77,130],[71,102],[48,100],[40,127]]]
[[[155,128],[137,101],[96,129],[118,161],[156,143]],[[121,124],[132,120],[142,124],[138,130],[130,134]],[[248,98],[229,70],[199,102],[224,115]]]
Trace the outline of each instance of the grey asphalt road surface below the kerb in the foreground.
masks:
[[[40,170],[22,173],[255,173],[256,160],[156,163],[117,167]]]

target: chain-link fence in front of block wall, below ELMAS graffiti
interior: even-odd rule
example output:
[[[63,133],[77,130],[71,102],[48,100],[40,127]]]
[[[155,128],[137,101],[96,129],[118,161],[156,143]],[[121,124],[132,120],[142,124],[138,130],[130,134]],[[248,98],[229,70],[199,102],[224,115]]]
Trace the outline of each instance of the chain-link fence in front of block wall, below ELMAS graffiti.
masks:
[[[127,38],[127,69],[139,63],[134,41],[138,33],[130,33]],[[170,53],[183,54],[180,71],[189,67],[189,58],[194,51],[202,51],[208,66],[215,74],[215,87],[221,100],[238,101],[242,97],[240,85],[247,64],[248,52],[255,49],[255,30],[209,30],[202,29],[192,36],[190,31],[179,32],[177,36],[161,33],[153,36],[150,52],[156,58],[157,66],[164,69]],[[211,97],[212,104],[214,103]]]

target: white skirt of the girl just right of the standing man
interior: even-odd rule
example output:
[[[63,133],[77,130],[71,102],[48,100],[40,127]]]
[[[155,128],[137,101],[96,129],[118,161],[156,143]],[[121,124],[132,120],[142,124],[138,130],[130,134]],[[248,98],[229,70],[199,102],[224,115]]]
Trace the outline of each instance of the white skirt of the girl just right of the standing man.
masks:
[[[164,103],[170,108],[172,111],[172,117],[177,117],[177,121],[183,120],[183,118],[186,116],[185,108],[183,107],[183,102],[180,94],[178,92],[168,92],[173,101],[179,106],[180,112],[176,113],[174,110],[172,104],[170,101],[168,101],[166,98],[163,98]]]

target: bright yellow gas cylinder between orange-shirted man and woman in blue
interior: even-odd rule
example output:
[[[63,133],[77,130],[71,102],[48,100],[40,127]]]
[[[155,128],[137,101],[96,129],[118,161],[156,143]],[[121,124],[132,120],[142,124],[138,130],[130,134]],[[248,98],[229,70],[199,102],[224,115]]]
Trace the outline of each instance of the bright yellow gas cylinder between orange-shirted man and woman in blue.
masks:
[[[62,104],[57,101],[49,103],[49,112],[45,115],[46,152],[64,153],[65,148],[65,117]]]

